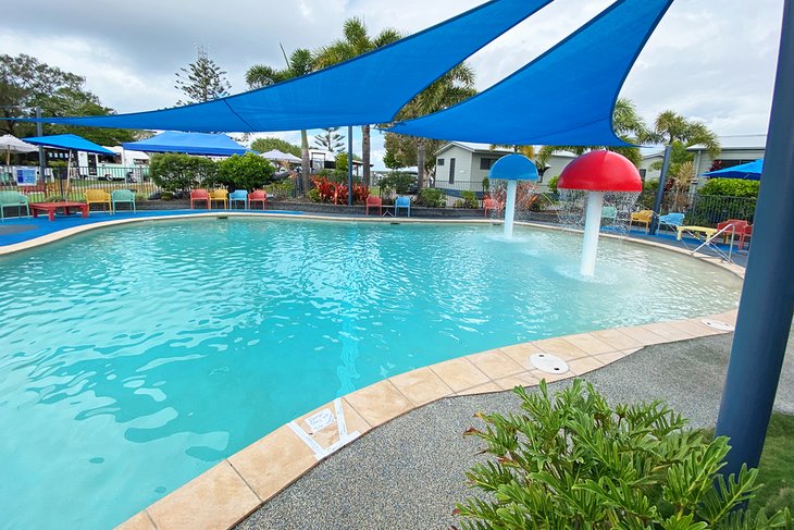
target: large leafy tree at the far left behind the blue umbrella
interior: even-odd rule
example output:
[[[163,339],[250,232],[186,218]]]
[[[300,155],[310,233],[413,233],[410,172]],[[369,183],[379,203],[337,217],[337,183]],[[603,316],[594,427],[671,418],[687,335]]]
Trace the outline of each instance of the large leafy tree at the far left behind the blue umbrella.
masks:
[[[46,116],[106,115],[113,109],[101,104],[99,98],[84,88],[85,77],[64,72],[38,59],[20,54],[0,56],[0,109],[4,120],[0,131],[14,136],[33,136],[36,125],[14,122],[11,116],[33,116],[40,107]],[[103,146],[132,141],[139,132],[121,128],[44,125],[45,134],[78,134]]]

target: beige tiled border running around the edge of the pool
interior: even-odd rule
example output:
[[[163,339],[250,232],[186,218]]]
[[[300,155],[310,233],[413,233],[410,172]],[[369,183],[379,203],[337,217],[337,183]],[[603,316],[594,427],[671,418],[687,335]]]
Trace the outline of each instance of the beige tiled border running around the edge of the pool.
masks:
[[[49,223],[49,221],[42,220],[42,222],[35,224],[35,229],[18,230],[17,226],[7,231],[5,234],[0,231],[0,255],[34,248],[104,226],[156,220],[216,217],[395,222],[394,219],[384,218],[318,215],[277,211],[262,213],[229,210],[212,210],[209,212],[207,210],[187,210],[138,212],[137,214],[128,213],[127,215],[100,213],[98,215],[92,214],[88,220],[83,220],[86,222],[76,221],[75,218],[63,218],[65,223],[60,226],[44,224]],[[20,220],[16,223],[10,222],[3,226],[20,225],[30,221]],[[58,222],[57,219],[53,224]],[[492,224],[500,221],[400,218],[399,222]],[[565,229],[555,225],[517,224],[543,230],[565,231]],[[670,242],[665,241],[665,237],[642,241],[623,235],[604,235],[631,244],[650,245],[671,251],[688,254],[684,248],[671,246]],[[12,242],[9,238],[15,241]],[[705,262],[743,276],[743,269],[736,264],[724,263],[714,257],[698,257],[703,258]],[[736,311],[734,310],[704,318],[681,319],[671,322],[546,338],[495,348],[395,375],[318,407],[289,424],[281,427],[150,505],[122,523],[120,528],[159,530],[229,528],[300,479],[318,464],[325,461],[332,453],[336,454],[334,451],[350,443],[353,446],[364,443],[370,439],[370,435],[365,435],[370,431],[376,428],[380,430],[382,426],[427,404],[434,402],[446,403],[452,396],[489,393],[501,395],[504,391],[516,385],[536,385],[542,378],[547,381],[556,381],[584,375],[594,370],[603,369],[605,366],[624,357],[632,356],[646,346],[724,333],[706,325],[704,319],[733,324],[735,318]],[[568,362],[570,372],[565,375],[550,375],[534,369],[529,363],[529,357],[535,353],[561,357]],[[330,422],[319,428],[312,428],[312,424],[317,426],[318,418],[325,418]],[[308,428],[305,426],[308,426]],[[330,426],[336,426],[337,428],[334,429]],[[358,436],[362,436],[361,442],[356,442]],[[343,454],[347,454],[347,449]]]

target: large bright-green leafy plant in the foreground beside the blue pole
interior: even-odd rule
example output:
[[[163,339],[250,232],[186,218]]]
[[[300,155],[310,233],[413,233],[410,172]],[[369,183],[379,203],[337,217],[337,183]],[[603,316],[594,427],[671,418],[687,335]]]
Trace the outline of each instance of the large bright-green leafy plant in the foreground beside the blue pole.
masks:
[[[794,528],[787,509],[746,511],[758,471],[723,478],[728,439],[661,402],[612,408],[582,380],[553,397],[545,382],[514,392],[522,414],[477,415],[484,429],[467,431],[495,459],[467,473],[486,495],[457,505],[464,529]]]

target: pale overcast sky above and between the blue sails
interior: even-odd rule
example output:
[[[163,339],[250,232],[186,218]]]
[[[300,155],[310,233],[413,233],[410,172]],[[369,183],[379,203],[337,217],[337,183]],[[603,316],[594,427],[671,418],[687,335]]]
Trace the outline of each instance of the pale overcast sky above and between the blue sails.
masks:
[[[246,89],[252,64],[281,67],[296,48],[340,37],[350,16],[371,34],[415,33],[481,0],[204,0],[107,2],[38,0],[3,10],[0,52],[27,53],[86,77],[86,88],[119,112],[173,106],[175,72],[201,45]],[[508,76],[595,16],[610,0],[556,0],[470,60],[480,90]],[[17,3],[17,5],[20,5]],[[720,135],[765,133],[783,0],[677,0],[629,75],[621,95],[647,121],[673,109]],[[585,58],[584,60],[597,60]],[[520,102],[517,102],[520,104]],[[280,133],[299,143],[298,133]],[[358,138],[358,135],[356,136]],[[356,148],[360,151],[360,146]],[[383,141],[373,138],[382,167]]]

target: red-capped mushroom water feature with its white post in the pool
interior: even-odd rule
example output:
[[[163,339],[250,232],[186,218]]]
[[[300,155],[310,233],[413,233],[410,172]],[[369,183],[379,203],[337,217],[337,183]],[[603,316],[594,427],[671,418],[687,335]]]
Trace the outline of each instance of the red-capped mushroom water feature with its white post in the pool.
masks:
[[[557,182],[559,189],[590,192],[584,218],[584,243],[580,272],[584,276],[595,274],[598,252],[598,231],[606,192],[640,193],[643,180],[631,161],[612,151],[590,151],[569,163]]]

